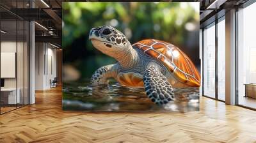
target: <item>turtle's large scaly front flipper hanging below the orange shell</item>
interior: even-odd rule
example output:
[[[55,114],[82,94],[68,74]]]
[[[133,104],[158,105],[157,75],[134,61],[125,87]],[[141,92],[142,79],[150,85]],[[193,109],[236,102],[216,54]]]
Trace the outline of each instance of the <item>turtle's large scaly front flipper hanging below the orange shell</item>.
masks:
[[[157,105],[163,105],[173,100],[171,84],[157,66],[148,66],[143,75],[143,82],[148,98]]]

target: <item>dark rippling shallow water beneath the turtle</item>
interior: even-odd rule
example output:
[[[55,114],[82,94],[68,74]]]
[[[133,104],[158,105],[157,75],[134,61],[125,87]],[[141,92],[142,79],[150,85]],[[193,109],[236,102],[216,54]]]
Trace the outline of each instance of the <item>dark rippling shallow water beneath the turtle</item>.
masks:
[[[121,86],[92,86],[90,82],[65,83],[63,86],[63,110],[92,112],[189,112],[199,110],[198,87],[174,89],[175,101],[155,105],[143,88]]]

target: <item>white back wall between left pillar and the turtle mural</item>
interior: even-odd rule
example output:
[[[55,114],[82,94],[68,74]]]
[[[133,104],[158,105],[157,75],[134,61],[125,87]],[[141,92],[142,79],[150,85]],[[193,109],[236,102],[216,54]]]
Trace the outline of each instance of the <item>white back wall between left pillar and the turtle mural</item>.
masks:
[[[49,43],[36,43],[35,47],[35,89],[49,89],[50,80],[56,77],[56,49]]]

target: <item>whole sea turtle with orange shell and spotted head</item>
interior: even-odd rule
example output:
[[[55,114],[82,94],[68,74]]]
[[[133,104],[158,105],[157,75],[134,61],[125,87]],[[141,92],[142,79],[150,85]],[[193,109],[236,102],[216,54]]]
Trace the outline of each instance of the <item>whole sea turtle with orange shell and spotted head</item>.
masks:
[[[147,39],[131,45],[111,26],[92,28],[89,39],[96,49],[118,61],[99,68],[92,75],[92,84],[108,84],[113,77],[125,86],[145,87],[148,98],[157,105],[174,100],[172,87],[200,86],[200,73],[193,62],[171,43]]]

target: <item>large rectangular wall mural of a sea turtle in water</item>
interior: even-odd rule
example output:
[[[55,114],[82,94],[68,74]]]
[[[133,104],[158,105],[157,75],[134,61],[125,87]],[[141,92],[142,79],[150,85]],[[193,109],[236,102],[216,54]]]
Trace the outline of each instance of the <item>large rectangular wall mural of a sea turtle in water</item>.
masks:
[[[199,110],[199,3],[63,3],[63,110]]]

